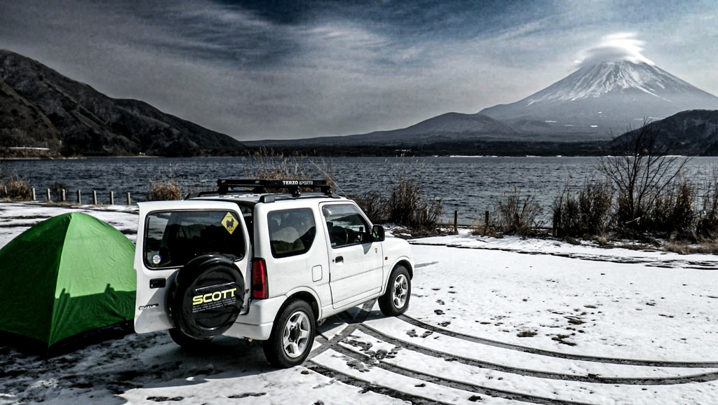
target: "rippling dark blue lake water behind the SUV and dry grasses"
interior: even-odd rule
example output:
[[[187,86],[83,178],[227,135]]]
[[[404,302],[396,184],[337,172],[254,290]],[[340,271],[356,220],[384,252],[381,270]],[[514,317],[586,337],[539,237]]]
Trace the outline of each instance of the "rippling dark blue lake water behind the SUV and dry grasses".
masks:
[[[536,198],[550,210],[551,202],[564,187],[578,187],[585,180],[600,179],[596,157],[422,157],[422,158],[332,158],[312,159],[330,172],[342,191],[356,194],[366,191],[390,192],[401,170],[421,181],[426,192],[444,200],[444,216],[452,218],[459,210],[460,223],[470,224],[483,218],[500,192],[518,187],[536,192]],[[320,172],[308,159],[296,159],[304,172]],[[187,192],[211,190],[218,178],[254,177],[257,162],[246,158],[88,158],[42,161],[8,161],[5,169],[17,172],[37,190],[55,182],[67,186],[68,199],[78,189],[83,200],[98,192],[107,203],[109,192],[116,202],[131,192],[142,201],[152,181],[174,178]],[[696,185],[707,182],[718,158],[696,157],[686,165],[686,177]],[[545,219],[548,218],[544,215]]]

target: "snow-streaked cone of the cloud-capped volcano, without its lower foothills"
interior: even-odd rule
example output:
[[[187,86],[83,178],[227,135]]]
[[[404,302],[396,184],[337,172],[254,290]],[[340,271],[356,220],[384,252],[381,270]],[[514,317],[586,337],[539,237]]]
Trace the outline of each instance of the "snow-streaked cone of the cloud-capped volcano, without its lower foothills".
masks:
[[[480,113],[523,134],[587,141],[693,109],[718,109],[718,97],[651,63],[619,60],[581,67],[521,101]]]

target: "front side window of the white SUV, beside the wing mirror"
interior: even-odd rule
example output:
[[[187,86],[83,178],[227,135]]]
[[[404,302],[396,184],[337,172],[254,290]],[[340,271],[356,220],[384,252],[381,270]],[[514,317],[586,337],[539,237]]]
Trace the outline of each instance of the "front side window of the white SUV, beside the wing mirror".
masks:
[[[332,248],[370,240],[371,227],[354,205],[325,205],[322,208],[322,213],[327,221]]]

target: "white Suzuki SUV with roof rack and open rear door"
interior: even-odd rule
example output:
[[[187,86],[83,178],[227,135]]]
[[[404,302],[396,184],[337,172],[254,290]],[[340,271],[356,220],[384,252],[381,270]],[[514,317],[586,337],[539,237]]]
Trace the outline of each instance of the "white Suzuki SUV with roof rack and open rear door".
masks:
[[[323,180],[218,180],[213,192],[139,208],[138,333],[169,329],[185,348],[219,335],[264,340],[271,364],[292,367],[317,322],[377,297],[388,316],[409,307],[409,243],[385,238]]]

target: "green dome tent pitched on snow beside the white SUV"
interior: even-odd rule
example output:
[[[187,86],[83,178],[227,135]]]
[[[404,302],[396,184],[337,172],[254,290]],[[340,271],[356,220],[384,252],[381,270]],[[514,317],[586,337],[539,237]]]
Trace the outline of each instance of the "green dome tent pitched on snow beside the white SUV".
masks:
[[[0,331],[47,353],[131,322],[133,261],[134,244],[90,215],[67,213],[33,226],[0,250]]]

